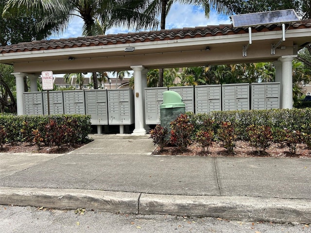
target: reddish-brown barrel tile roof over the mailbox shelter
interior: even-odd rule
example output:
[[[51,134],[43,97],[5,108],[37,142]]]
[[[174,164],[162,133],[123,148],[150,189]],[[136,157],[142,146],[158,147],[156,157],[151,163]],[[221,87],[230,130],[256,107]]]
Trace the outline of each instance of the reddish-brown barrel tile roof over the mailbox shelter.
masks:
[[[299,22],[293,22],[290,24],[286,23],[286,25],[286,27],[289,26],[289,29],[311,28],[311,19],[301,20]],[[258,25],[256,27],[252,27],[253,33],[280,30],[282,30],[281,23]],[[171,29],[150,32],[124,33],[115,35],[108,34],[68,39],[32,41],[0,47],[0,53],[36,50],[57,50],[87,46],[104,46],[124,43],[151,42],[242,33],[248,33],[248,27],[234,28],[232,24],[226,24],[218,26]]]

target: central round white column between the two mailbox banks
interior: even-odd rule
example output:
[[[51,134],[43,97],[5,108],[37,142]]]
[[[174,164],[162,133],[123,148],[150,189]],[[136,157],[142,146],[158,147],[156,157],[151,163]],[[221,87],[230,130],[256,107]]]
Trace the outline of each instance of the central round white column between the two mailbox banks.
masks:
[[[134,103],[135,103],[135,129],[133,135],[145,135],[144,128],[144,104],[143,104],[143,88],[142,74],[145,68],[143,66],[132,66],[134,70]]]

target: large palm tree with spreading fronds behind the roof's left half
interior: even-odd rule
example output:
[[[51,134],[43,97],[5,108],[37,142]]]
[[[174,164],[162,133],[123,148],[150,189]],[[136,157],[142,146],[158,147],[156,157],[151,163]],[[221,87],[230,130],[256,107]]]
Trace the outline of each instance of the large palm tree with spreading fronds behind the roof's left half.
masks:
[[[149,0],[7,0],[3,14],[17,17],[19,9],[43,12],[46,17],[37,27],[54,34],[62,33],[72,17],[77,16],[84,21],[83,35],[91,36],[104,34],[114,26],[136,30],[157,28],[158,20],[145,12],[148,3]],[[93,72],[93,82],[97,89],[96,72]]]

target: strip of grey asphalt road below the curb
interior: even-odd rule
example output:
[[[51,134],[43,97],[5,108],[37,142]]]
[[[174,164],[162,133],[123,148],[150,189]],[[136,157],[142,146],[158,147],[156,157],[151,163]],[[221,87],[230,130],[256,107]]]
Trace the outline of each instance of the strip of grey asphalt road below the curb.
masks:
[[[311,233],[311,225],[0,205],[3,233]]]

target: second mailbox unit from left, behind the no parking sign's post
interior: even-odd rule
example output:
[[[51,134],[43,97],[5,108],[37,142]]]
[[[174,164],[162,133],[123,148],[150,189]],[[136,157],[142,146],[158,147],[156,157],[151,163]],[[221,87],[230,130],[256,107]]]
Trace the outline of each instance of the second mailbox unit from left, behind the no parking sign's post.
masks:
[[[50,114],[64,114],[64,100],[62,91],[50,91]],[[43,92],[44,114],[48,115],[48,93]]]

